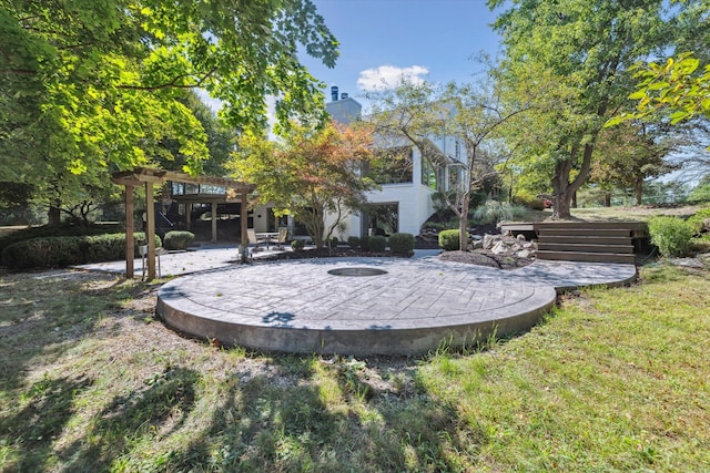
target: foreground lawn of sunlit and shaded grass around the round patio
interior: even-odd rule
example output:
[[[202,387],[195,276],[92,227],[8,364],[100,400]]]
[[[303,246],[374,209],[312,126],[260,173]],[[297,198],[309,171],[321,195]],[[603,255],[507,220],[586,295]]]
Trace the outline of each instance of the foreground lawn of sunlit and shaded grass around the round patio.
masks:
[[[0,471],[710,471],[710,270],[562,296],[422,358],[255,354],[153,319],[159,285],[0,276]]]

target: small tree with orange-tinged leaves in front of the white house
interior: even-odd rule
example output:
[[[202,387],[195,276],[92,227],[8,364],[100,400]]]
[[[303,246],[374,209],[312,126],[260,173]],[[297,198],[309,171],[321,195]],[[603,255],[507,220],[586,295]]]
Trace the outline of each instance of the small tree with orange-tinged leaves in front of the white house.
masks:
[[[318,247],[351,210],[365,204],[365,192],[376,187],[362,173],[374,153],[366,124],[294,124],[278,141],[245,133],[239,147],[234,176],[254,183],[257,202],[273,203],[275,214],[293,215],[304,224]]]

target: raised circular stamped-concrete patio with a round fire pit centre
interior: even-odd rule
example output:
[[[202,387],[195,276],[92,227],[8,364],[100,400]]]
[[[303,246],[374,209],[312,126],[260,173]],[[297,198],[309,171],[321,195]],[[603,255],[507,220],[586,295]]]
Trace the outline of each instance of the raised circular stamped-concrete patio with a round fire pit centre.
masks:
[[[180,277],[160,289],[156,310],[181,332],[260,351],[416,354],[529,329],[555,299],[552,285],[516,271],[323,258]]]

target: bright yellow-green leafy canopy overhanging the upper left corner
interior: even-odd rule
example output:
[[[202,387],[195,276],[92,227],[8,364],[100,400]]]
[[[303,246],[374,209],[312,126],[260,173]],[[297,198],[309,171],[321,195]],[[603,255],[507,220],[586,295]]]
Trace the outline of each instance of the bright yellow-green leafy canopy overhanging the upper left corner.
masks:
[[[185,104],[202,88],[239,130],[322,119],[300,47],[333,65],[311,0],[0,0],[0,181],[51,193],[165,158],[201,169],[207,136]],[[64,191],[55,193],[58,198]]]

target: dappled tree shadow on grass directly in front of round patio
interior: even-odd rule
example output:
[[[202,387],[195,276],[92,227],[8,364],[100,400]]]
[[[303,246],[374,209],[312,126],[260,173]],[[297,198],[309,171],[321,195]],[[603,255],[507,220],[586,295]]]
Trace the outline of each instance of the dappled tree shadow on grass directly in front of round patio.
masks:
[[[294,360],[301,367],[296,373]],[[317,358],[285,357],[274,362],[277,372],[271,376],[246,382],[239,377],[226,380],[226,395],[209,424],[182,451],[172,452],[165,467],[183,471],[202,465],[241,472],[462,469],[463,452],[471,448],[456,435],[462,421],[454,409],[424,390],[415,388],[406,397],[379,391],[349,361],[323,366]],[[321,374],[314,363],[321,364]],[[308,382],[323,371],[326,381]]]

